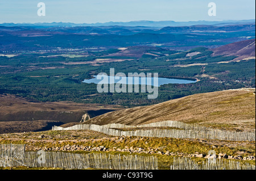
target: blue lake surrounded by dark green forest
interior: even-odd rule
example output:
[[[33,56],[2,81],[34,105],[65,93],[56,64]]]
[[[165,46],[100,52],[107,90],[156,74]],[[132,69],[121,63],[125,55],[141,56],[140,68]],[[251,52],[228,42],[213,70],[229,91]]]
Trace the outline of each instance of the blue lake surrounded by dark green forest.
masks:
[[[154,86],[154,77],[148,79],[146,77],[118,77],[118,76],[109,76],[109,75],[93,75],[94,78],[85,79],[84,83],[101,83],[101,84],[110,84],[111,83],[122,83],[126,85],[151,85]],[[158,77],[158,85],[155,86],[162,86],[169,83],[178,83],[178,84],[187,84],[187,83],[195,83],[196,81],[188,80],[188,79],[175,79],[175,78],[162,78]],[[156,84],[156,83],[155,83]]]

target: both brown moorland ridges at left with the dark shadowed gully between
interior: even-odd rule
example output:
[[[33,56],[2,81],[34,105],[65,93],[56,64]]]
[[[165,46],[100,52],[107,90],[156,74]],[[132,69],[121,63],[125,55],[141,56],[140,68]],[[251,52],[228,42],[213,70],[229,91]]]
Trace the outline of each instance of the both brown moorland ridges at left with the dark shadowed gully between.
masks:
[[[33,101],[15,95],[0,94],[0,134],[47,130],[52,125],[80,121],[85,113],[94,117],[119,109],[101,104]]]

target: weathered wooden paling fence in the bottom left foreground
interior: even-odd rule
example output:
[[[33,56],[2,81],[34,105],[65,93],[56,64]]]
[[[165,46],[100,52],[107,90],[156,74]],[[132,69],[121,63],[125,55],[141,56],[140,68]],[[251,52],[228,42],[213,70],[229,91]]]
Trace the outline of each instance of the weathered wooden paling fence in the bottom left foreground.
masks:
[[[11,148],[11,149],[9,149]],[[0,145],[0,167],[48,167],[61,169],[158,170],[154,156],[76,154],[62,151],[25,151],[25,145]],[[14,151],[15,150],[15,154]]]

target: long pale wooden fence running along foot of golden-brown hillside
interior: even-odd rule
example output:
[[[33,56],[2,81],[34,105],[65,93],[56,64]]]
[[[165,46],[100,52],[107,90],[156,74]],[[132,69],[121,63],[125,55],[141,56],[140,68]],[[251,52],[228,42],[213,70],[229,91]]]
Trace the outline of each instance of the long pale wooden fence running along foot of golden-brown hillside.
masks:
[[[114,128],[142,128],[142,127],[172,127],[180,129],[150,129],[136,131],[120,131]],[[123,125],[123,124],[77,124],[72,127],[52,127],[52,131],[57,130],[79,130],[89,129],[112,136],[142,136],[142,137],[171,137],[171,138],[197,138],[211,140],[229,140],[229,141],[255,141],[255,132],[236,132],[222,131],[202,127],[196,124],[185,124],[180,121],[163,121],[158,123],[150,123],[138,126]]]

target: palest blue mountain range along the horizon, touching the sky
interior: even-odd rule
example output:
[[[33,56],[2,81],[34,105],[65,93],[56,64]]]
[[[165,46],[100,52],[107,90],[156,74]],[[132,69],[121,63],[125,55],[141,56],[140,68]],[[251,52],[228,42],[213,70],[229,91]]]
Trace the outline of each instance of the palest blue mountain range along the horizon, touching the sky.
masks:
[[[107,22],[107,23],[63,23],[63,22],[52,22],[52,23],[2,23],[0,26],[32,26],[32,27],[79,27],[79,26],[131,26],[131,27],[177,27],[177,26],[193,26],[193,25],[214,25],[214,26],[225,26],[230,24],[245,24],[245,23],[255,23],[255,19],[250,20],[223,20],[223,21],[190,21],[190,22],[174,22],[174,21],[132,21],[132,22]]]

